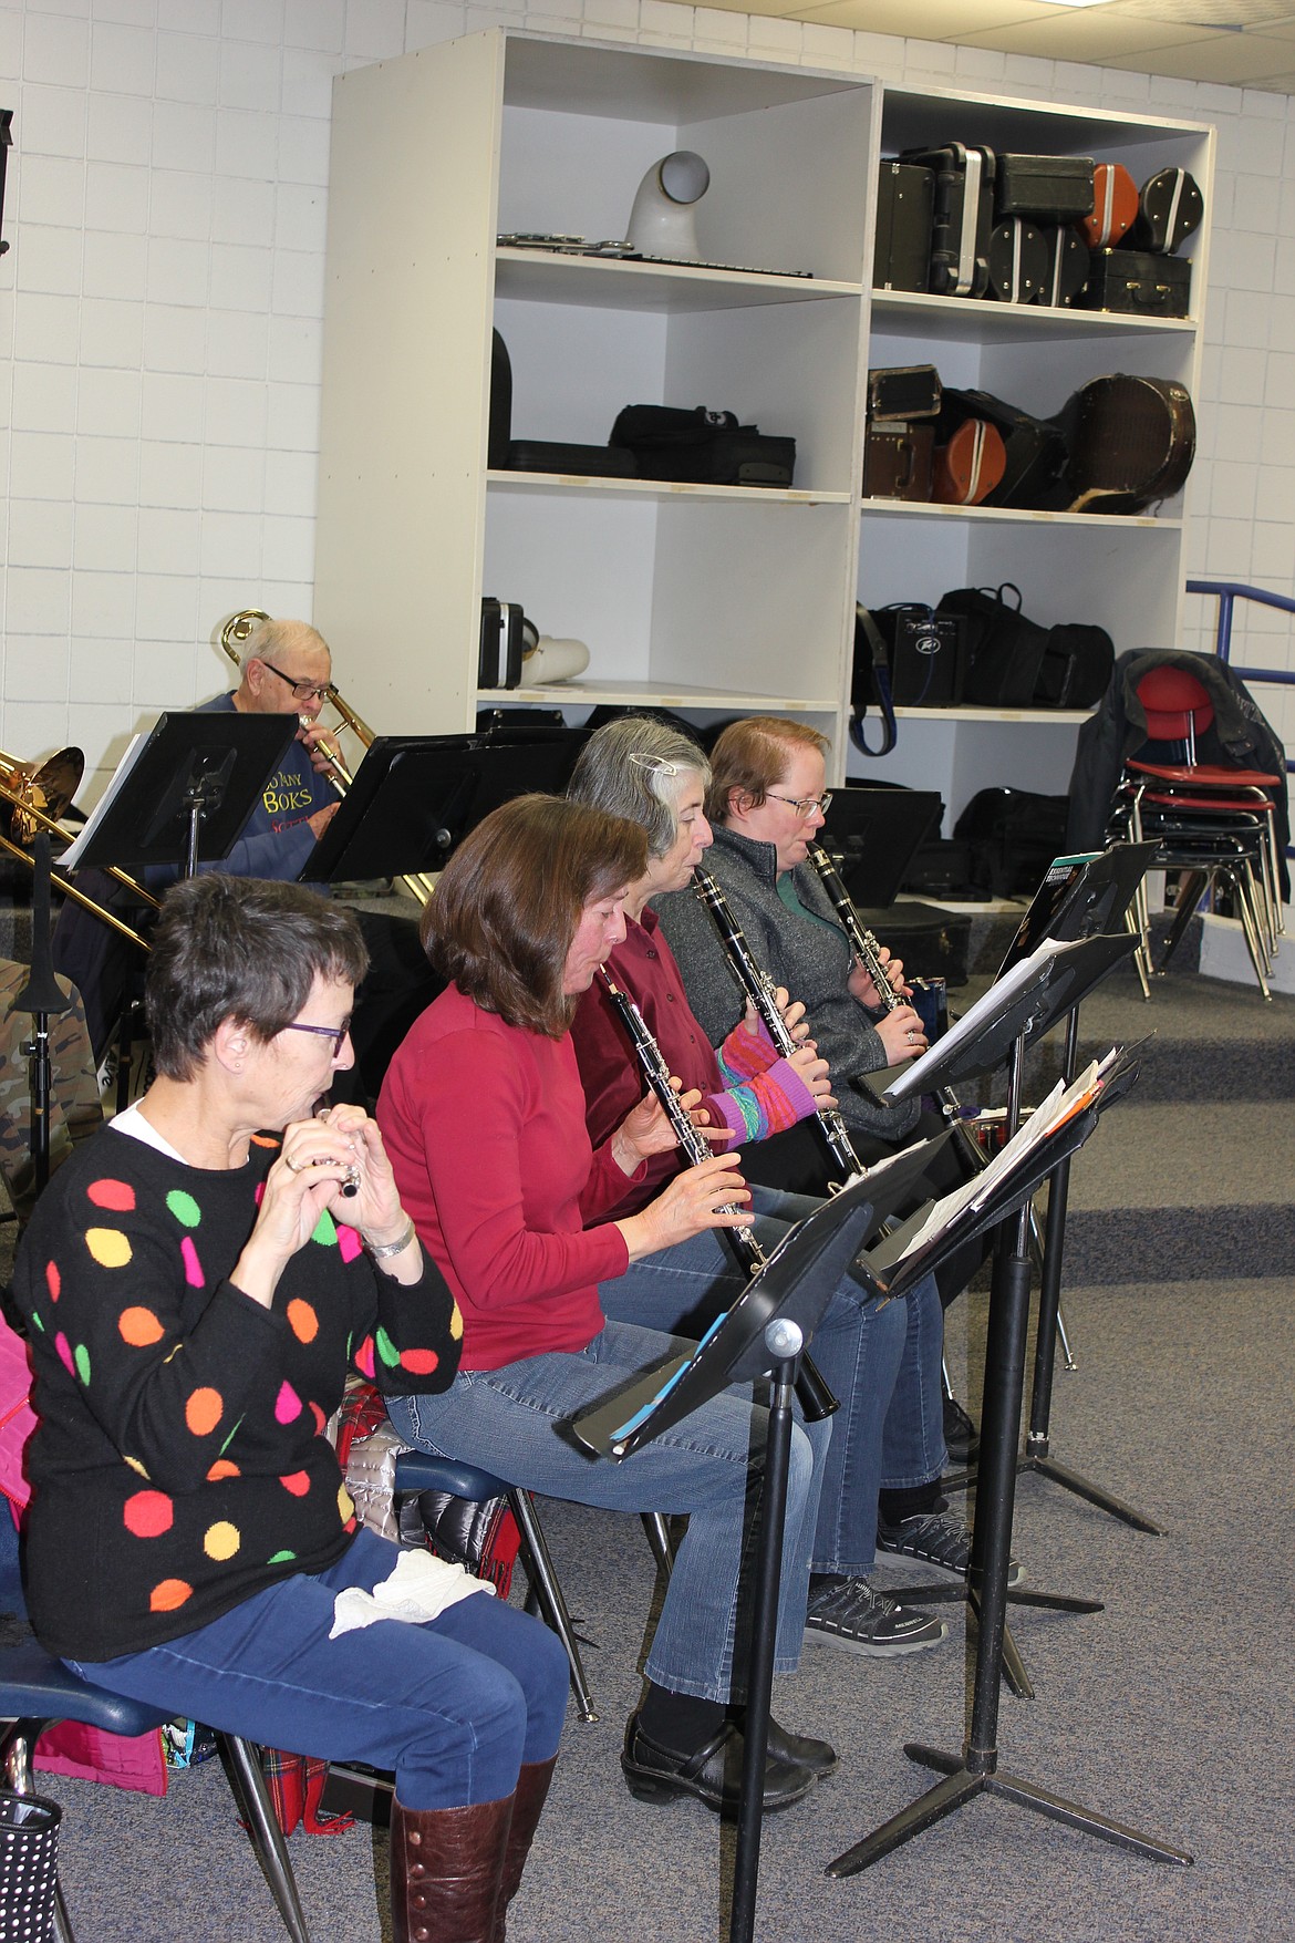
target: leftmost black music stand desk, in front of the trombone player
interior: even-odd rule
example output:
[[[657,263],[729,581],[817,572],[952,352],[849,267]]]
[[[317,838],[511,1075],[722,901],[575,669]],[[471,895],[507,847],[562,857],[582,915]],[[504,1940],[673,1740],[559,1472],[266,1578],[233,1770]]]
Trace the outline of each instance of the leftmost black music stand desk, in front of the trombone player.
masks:
[[[148,736],[134,738],[60,863],[181,865],[181,876],[198,869],[198,849],[202,863],[219,863],[297,729],[295,715],[159,715]]]

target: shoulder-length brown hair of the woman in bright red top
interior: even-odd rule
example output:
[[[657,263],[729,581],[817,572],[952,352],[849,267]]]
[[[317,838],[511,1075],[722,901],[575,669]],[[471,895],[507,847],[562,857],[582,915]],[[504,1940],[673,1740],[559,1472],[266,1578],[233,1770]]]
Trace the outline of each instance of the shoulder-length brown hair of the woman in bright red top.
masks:
[[[645,870],[647,837],[623,816],[515,797],[447,863],[423,911],[423,948],[483,1010],[561,1040],[575,1014],[563,972],[581,911]]]

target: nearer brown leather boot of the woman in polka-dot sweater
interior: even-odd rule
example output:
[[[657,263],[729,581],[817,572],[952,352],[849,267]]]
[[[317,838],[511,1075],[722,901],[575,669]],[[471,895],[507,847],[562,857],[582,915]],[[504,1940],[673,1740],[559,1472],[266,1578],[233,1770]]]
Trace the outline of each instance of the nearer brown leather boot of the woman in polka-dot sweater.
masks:
[[[394,1943],[493,1943],[513,1795],[470,1809],[392,1801]]]

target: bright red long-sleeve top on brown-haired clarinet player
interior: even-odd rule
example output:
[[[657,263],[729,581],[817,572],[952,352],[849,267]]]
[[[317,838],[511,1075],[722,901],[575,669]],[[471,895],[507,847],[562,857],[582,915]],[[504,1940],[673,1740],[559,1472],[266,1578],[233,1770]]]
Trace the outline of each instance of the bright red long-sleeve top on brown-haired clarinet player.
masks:
[[[582,1350],[629,1253],[625,1174],[584,1131],[569,1038],[507,1026],[454,985],[386,1069],[377,1119],[400,1199],[464,1317],[464,1370]]]

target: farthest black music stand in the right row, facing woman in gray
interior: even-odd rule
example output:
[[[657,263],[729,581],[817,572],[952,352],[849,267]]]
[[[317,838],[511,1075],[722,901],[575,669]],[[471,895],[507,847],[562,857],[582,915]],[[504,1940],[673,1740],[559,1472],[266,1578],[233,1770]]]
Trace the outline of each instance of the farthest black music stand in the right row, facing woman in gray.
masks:
[[[1046,872],[1035,900],[1021,919],[1004,970],[1012,966],[1019,952],[1031,950],[1043,937],[1085,938],[1095,931],[1112,931],[1134,900],[1138,884],[1155,861],[1155,843],[1116,843],[1101,855],[1058,857]],[[1079,1065],[1079,1006],[1076,1005],[1066,1020],[1066,1051],[1062,1057],[1062,1078],[1070,1084]],[[1122,1519],[1136,1531],[1147,1531],[1153,1539],[1163,1539],[1163,1525],[1153,1523],[1144,1512],[1136,1512],[1122,1498],[1093,1484],[1091,1479],[1056,1463],[1050,1455],[1052,1426],[1052,1381],[1056,1376],[1056,1325],[1062,1302],[1062,1263],[1066,1255],[1066,1212],[1070,1203],[1070,1160],[1060,1160],[1048,1176],[1048,1214],[1043,1236],[1043,1275],[1039,1280],[1039,1329],[1035,1335],[1035,1374],[1029,1393],[1029,1430],[1025,1434],[1025,1453],[1017,1457],[1017,1477],[1023,1471],[1037,1471],[1039,1477],[1052,1479]],[[953,1484],[959,1484],[955,1479]]]

